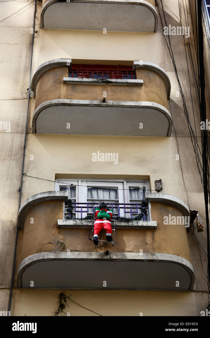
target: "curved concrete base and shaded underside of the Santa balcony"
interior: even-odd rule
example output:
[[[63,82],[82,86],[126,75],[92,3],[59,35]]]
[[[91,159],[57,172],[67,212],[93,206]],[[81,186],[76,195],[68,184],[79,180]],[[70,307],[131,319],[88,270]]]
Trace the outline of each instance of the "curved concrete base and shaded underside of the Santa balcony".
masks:
[[[95,273],[97,271],[97,273]],[[104,278],[106,276],[106,278]],[[50,289],[192,290],[193,267],[183,257],[139,252],[40,252],[18,269],[19,287]]]

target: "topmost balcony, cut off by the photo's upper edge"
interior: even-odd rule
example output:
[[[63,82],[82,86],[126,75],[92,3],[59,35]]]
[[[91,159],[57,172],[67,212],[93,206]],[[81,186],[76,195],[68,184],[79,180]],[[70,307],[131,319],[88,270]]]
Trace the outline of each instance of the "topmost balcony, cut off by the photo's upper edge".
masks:
[[[156,32],[155,0],[43,0],[41,28]]]

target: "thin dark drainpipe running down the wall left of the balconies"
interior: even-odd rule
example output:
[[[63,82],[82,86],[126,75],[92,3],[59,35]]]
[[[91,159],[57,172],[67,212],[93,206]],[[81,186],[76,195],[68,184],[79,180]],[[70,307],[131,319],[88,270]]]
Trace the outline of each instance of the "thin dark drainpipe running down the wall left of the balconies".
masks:
[[[23,173],[24,173],[25,152],[26,152],[26,137],[27,137],[29,100],[30,100],[30,89],[31,89],[31,69],[32,69],[34,30],[35,30],[35,15],[36,15],[36,0],[34,1],[34,20],[33,20],[33,34],[32,34],[32,46],[31,46],[31,66],[30,66],[30,77],[29,77],[29,88],[28,88],[28,105],[27,105],[27,115],[26,115],[26,129],[25,129],[25,140],[24,140],[24,150],[23,150],[23,164],[22,164],[22,175],[21,175],[21,186],[20,186],[20,198],[19,198],[18,212],[19,212],[19,209],[20,209],[20,206],[21,206],[21,196],[22,196],[22,186],[23,186]],[[17,221],[17,227],[16,227],[16,239],[15,239],[15,244],[14,244],[14,256],[13,256],[13,264],[12,264],[12,276],[11,276],[11,284],[10,284],[10,292],[9,292],[8,311],[10,311],[10,305],[11,305],[11,296],[12,296],[12,286],[13,286],[13,278],[14,278],[14,264],[15,264],[16,249],[17,249],[17,240],[18,240],[18,221]]]

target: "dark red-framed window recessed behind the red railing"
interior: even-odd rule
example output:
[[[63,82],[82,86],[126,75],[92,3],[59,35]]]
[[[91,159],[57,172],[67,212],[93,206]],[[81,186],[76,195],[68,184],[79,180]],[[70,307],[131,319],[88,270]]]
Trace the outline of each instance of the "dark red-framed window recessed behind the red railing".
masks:
[[[135,79],[132,66],[71,65],[69,77],[91,79]]]

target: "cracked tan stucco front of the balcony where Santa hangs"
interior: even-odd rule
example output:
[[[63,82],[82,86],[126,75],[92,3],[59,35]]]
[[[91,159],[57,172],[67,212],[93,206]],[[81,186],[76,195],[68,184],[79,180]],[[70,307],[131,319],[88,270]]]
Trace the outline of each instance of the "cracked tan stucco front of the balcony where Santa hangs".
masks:
[[[167,215],[182,216],[177,208],[159,202],[151,202],[151,220],[157,221],[157,229],[117,229],[114,252],[161,252],[177,255],[189,262],[190,253],[185,225],[164,225]],[[33,222],[30,220],[33,218]],[[107,244],[95,246],[88,240],[89,229],[58,228],[57,220],[63,219],[63,201],[45,201],[35,204],[26,214],[21,261],[38,252],[47,251],[95,251],[104,252]],[[105,232],[100,235],[104,237]],[[104,239],[104,238],[103,238]],[[105,238],[106,239],[106,238]],[[57,242],[64,243],[61,248]]]

